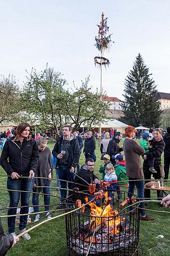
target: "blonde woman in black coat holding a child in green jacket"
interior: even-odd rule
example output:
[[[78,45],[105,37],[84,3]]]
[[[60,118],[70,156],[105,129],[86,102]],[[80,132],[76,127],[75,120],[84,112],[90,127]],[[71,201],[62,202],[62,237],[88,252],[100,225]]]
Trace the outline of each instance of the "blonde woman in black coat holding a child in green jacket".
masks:
[[[153,175],[153,177],[156,180],[160,180],[161,179],[161,171],[160,169],[162,168],[161,165],[161,154],[164,152],[164,147],[165,147],[165,143],[162,140],[161,137],[161,130],[156,128],[153,131],[153,139],[150,141],[150,145],[152,146],[152,150],[151,152],[147,152],[144,154],[144,162],[143,162],[143,172],[144,172],[144,178],[145,178],[145,183],[149,182],[149,180],[151,179],[151,175]],[[154,169],[156,170],[156,173],[152,173],[149,170],[149,164],[147,159],[151,159],[155,157],[154,160]],[[157,196],[158,198],[163,198],[163,192],[157,190]],[[144,189],[144,198],[150,198],[150,189]]]

